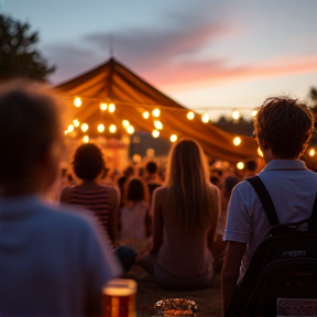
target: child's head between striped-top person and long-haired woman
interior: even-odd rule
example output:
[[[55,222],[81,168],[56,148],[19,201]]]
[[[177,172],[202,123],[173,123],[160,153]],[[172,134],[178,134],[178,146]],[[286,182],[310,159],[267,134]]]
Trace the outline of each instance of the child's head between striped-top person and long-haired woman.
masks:
[[[124,201],[149,201],[149,188],[140,177],[130,177],[124,184]]]

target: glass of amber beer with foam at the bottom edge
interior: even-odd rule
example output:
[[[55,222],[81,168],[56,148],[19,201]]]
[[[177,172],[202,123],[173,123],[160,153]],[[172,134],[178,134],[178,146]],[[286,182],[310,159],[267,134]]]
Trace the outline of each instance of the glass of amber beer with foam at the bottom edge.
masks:
[[[136,283],[113,278],[102,288],[103,317],[135,317]]]

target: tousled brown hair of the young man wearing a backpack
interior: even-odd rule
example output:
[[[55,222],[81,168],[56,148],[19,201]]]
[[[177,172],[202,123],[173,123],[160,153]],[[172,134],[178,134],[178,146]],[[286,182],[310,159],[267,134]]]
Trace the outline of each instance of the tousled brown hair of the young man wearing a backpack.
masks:
[[[286,96],[266,98],[254,119],[258,140],[267,143],[278,158],[297,158],[314,131],[315,118],[305,102]]]

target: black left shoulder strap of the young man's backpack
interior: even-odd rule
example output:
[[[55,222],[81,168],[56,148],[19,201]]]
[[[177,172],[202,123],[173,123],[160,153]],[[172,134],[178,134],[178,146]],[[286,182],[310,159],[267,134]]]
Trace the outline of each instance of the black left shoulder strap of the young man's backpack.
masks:
[[[273,200],[272,200],[265,185],[261,181],[261,178],[258,175],[255,175],[253,177],[245,178],[245,181],[252,185],[255,193],[258,194],[258,196],[262,203],[262,206],[264,208],[265,215],[269,219],[270,226],[273,227],[273,226],[280,225],[280,220],[277,218]],[[317,198],[317,196],[316,196],[316,198]],[[316,211],[317,211],[317,199],[315,200],[314,208],[315,207],[316,207]],[[317,212],[315,212],[315,214],[317,217]]]

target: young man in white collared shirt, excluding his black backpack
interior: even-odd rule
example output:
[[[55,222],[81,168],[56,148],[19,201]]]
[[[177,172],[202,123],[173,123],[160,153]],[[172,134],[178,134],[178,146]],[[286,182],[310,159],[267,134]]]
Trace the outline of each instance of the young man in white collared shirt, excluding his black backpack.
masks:
[[[287,97],[267,98],[254,121],[265,167],[259,174],[276,208],[281,223],[310,217],[317,193],[317,174],[299,161],[314,131],[309,108]],[[269,220],[249,182],[238,184],[229,204],[225,240],[228,241],[222,270],[222,300],[226,313],[237,283],[254,251],[269,237]]]

